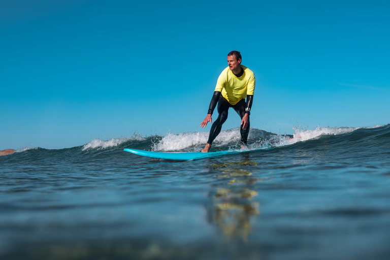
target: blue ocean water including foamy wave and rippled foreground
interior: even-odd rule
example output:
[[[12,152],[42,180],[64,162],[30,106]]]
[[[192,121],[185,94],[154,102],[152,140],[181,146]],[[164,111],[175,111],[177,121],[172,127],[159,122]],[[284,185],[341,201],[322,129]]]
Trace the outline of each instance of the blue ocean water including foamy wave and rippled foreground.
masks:
[[[390,259],[390,125],[251,128],[257,150],[194,161],[123,151],[200,151],[207,137],[0,156],[0,258]],[[212,151],[238,148],[234,128]]]

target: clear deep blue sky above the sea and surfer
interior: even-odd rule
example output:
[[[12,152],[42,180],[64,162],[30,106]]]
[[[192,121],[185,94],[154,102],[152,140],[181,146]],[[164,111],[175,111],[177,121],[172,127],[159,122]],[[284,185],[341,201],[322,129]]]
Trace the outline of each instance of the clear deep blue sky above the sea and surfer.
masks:
[[[232,50],[256,77],[251,127],[390,123],[389,13],[388,1],[2,0],[0,150],[208,132]],[[232,111],[223,129],[239,124]]]

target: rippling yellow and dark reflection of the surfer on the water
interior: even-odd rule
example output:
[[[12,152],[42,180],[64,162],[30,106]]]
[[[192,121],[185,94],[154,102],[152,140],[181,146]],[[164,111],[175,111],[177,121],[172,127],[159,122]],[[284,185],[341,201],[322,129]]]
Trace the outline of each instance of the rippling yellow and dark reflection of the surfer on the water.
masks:
[[[226,239],[247,242],[251,220],[260,214],[260,204],[253,201],[258,193],[250,186],[261,180],[246,170],[248,166],[257,166],[257,163],[244,160],[211,166],[212,170],[220,172],[215,177],[223,183],[216,184],[216,190],[210,193],[213,206],[209,208],[208,220],[220,228]]]

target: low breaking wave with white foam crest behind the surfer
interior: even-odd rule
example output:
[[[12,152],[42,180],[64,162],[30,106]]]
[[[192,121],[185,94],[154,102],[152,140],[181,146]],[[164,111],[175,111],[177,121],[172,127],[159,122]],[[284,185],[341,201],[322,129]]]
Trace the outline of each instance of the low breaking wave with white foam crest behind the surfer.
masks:
[[[300,148],[313,149],[319,145],[333,145],[334,149],[380,146],[388,143],[390,138],[390,125],[375,125],[371,127],[319,127],[315,129],[294,128],[293,135],[280,135],[261,129],[251,128],[248,136],[249,149],[288,148],[290,145],[302,144]],[[68,157],[105,158],[123,154],[124,148],[141,149],[161,152],[191,152],[200,151],[207,142],[208,132],[186,132],[179,134],[167,134],[161,136],[142,137],[136,134],[133,137],[111,138],[109,140],[93,139],[78,147],[49,150],[44,148],[18,149],[10,156],[23,155],[20,159],[40,156],[55,157],[61,159]],[[232,128],[222,131],[214,140],[213,151],[239,149],[240,128]],[[323,140],[323,141],[321,141]],[[324,141],[326,140],[326,141]],[[321,143],[322,142],[322,143]],[[352,147],[352,148],[353,148]],[[291,147],[293,149],[294,146]],[[360,149],[359,148],[359,149]],[[5,158],[2,158],[5,159]]]

